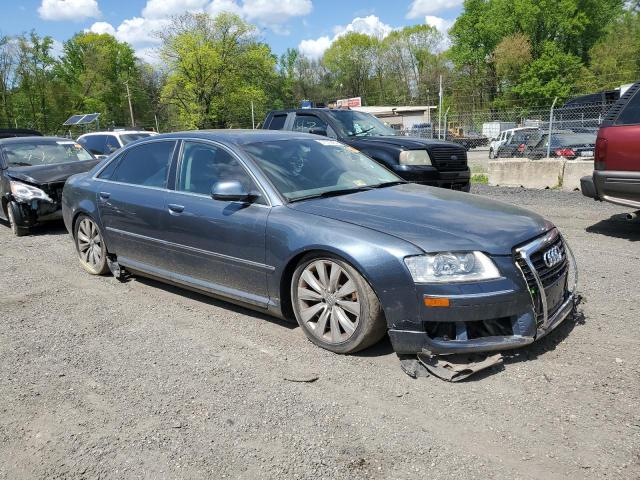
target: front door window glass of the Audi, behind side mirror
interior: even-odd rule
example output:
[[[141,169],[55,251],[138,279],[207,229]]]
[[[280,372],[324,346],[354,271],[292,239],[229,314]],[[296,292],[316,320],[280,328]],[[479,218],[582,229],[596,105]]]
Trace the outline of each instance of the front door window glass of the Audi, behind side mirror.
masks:
[[[198,142],[184,143],[178,191],[208,196],[216,183],[234,180],[247,191],[256,190],[244,167],[225,149]]]

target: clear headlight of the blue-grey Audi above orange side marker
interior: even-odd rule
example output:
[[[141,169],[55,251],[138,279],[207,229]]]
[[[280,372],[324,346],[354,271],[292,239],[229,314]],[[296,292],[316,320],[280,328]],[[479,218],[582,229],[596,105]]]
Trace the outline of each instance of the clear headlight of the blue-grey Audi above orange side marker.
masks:
[[[441,252],[406,257],[416,283],[474,282],[500,278],[500,272],[482,252]]]

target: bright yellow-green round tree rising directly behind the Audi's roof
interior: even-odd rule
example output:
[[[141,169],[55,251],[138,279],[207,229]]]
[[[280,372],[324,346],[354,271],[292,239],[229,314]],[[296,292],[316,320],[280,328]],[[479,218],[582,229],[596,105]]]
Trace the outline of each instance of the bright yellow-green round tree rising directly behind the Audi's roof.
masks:
[[[268,105],[276,58],[257,41],[254,26],[233,14],[176,17],[162,34],[168,68],[162,98],[187,128],[251,125]]]

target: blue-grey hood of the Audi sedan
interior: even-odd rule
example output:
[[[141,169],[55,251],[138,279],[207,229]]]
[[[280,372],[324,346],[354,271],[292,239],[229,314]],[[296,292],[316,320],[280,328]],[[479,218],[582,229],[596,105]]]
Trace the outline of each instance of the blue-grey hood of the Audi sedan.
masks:
[[[393,235],[425,252],[479,250],[511,255],[514,246],[553,228],[541,216],[513,205],[415,184],[289,206]]]

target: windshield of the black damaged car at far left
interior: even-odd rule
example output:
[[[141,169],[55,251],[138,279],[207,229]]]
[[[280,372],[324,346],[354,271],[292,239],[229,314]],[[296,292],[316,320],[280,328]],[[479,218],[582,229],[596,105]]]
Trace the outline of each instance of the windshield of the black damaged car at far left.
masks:
[[[32,167],[93,159],[79,143],[71,140],[33,140],[28,143],[4,145],[3,150],[10,167]]]

